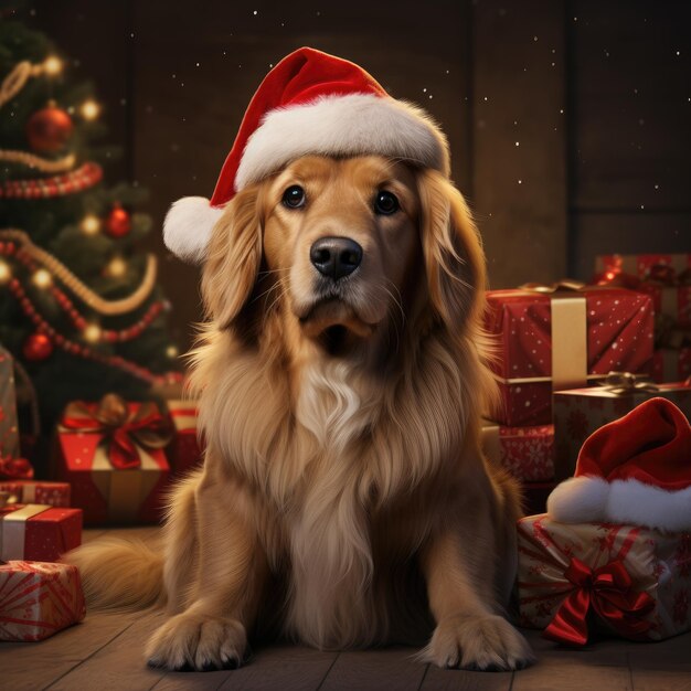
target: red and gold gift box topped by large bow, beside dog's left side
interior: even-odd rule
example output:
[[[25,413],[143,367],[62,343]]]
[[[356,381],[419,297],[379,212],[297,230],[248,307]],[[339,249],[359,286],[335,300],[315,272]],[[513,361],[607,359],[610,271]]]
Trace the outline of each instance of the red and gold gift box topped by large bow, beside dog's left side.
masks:
[[[161,518],[170,426],[152,403],[73,403],[57,427],[56,476],[72,486],[84,522],[150,523]]]

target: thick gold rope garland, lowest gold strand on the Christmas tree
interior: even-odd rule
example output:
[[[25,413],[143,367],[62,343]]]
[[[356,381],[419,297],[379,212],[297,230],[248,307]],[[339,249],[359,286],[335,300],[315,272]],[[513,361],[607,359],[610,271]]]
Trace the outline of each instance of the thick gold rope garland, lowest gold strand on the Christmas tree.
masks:
[[[139,287],[128,297],[119,300],[106,300],[82,283],[64,264],[45,249],[31,242],[24,231],[0,228],[0,241],[15,242],[33,259],[42,264],[63,285],[76,295],[85,305],[104,317],[126,315],[140,307],[151,295],[156,286],[157,261],[152,254],[147,255],[147,266]]]

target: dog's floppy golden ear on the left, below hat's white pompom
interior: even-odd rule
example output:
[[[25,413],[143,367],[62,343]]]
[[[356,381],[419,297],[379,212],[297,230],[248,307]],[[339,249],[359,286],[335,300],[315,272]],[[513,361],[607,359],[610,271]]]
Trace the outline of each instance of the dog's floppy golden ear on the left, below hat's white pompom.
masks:
[[[228,203],[211,234],[202,274],[209,316],[227,329],[249,300],[262,263],[259,185],[249,185]]]

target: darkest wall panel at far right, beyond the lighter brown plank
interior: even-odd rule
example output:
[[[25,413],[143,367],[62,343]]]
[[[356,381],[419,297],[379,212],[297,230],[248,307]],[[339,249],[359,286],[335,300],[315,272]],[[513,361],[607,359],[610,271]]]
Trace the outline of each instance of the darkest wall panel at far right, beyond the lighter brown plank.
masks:
[[[691,252],[691,3],[567,3],[570,269]]]

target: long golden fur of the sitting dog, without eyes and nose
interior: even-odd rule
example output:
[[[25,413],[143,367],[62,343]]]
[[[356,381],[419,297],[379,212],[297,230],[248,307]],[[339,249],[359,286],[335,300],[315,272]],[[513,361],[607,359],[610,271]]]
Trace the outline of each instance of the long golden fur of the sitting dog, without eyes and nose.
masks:
[[[295,184],[307,201],[289,209]],[[375,212],[382,190],[398,211]],[[325,236],[362,247],[343,280],[310,264]],[[443,667],[527,663],[502,616],[518,493],[478,442],[483,289],[476,226],[436,171],[305,157],[240,192],[202,277],[203,470],[171,497],[162,554],[110,541],[68,556],[91,600],[164,603],[147,657],[171,669],[238,665],[264,634],[318,648],[432,634],[422,655]]]

